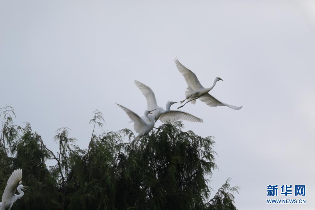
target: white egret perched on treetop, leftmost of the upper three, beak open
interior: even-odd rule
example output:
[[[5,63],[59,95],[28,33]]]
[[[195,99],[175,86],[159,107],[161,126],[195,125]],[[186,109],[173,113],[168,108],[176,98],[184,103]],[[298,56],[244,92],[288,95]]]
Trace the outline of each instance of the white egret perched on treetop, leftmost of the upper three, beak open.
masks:
[[[144,112],[144,116],[150,119],[150,122],[148,122],[146,120],[143,120],[139,115],[137,115],[135,112],[131,111],[130,109],[127,109],[123,105],[120,105],[120,104],[117,104],[117,105],[120,108],[122,108],[123,111],[125,111],[127,115],[129,116],[129,118],[134,122],[135,131],[139,133],[138,136],[135,138],[136,141],[139,141],[142,137],[145,137],[150,133],[150,131],[154,127],[155,122],[154,122],[154,118],[152,116],[149,116],[149,114],[156,114],[155,112],[152,112],[155,109],[151,111],[146,110]]]

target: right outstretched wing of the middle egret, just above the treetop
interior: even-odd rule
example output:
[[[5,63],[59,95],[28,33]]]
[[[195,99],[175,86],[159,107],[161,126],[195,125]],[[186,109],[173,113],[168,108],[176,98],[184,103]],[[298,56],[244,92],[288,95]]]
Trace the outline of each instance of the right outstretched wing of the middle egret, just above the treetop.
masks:
[[[203,122],[203,119],[200,119],[199,117],[193,116],[192,114],[189,114],[184,111],[177,111],[177,110],[171,110],[167,114],[162,114],[159,120],[163,123],[166,121],[177,121],[177,120],[187,120],[190,122]]]

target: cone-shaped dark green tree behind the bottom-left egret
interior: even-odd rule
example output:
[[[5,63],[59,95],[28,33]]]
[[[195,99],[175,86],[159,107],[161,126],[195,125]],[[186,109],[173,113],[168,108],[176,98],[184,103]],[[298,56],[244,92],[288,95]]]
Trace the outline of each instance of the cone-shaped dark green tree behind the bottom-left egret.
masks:
[[[22,184],[28,186],[28,191],[14,203],[12,210],[59,209],[57,182],[46,165],[50,154],[42,145],[42,137],[33,132],[31,125],[26,123],[23,132],[18,139],[15,139],[11,148],[12,164],[5,179],[9,178],[14,169],[22,168]],[[3,189],[4,186],[0,189],[1,194]]]

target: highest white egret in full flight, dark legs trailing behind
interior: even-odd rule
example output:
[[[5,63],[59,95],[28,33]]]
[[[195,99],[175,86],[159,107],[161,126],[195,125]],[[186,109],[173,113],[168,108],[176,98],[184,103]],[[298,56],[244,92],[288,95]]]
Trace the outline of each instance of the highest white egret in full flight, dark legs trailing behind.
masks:
[[[221,79],[220,77],[216,77],[211,88],[204,88],[200,84],[200,82],[199,82],[198,78],[196,77],[196,75],[194,74],[194,72],[192,72],[191,70],[187,69],[184,65],[182,65],[177,60],[177,58],[174,61],[175,61],[175,65],[177,66],[178,71],[184,76],[186,83],[187,83],[187,86],[188,86],[187,90],[185,92],[187,102],[184,105],[186,105],[188,102],[195,104],[196,99],[200,99],[202,102],[206,103],[208,106],[211,106],[211,107],[213,107],[213,106],[227,106],[227,107],[230,107],[231,109],[235,109],[235,110],[239,110],[243,107],[243,106],[238,107],[238,106],[233,106],[233,105],[223,103],[209,94],[209,91],[215,87],[216,82],[218,82],[220,80],[223,81],[223,79]],[[185,100],[180,101],[180,103],[183,103]],[[177,109],[183,107],[184,105],[178,107]]]

